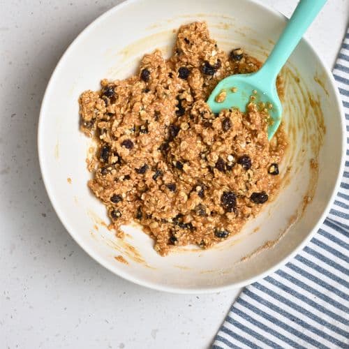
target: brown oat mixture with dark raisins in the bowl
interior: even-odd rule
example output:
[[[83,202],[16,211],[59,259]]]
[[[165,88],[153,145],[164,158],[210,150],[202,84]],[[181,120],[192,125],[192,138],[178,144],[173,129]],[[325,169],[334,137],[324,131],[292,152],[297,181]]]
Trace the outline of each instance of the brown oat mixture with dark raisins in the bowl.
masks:
[[[287,147],[283,128],[268,142],[267,107],[253,96],[246,114],[213,114],[205,103],[218,81],[260,65],[241,48],[219,50],[207,24],[194,22],[179,28],[170,59],[146,54],[138,75],[102,80],[100,91],[80,96],[81,129],[98,142],[89,188],[117,236],[137,221],[161,255],[174,246],[209,248],[271,200]]]

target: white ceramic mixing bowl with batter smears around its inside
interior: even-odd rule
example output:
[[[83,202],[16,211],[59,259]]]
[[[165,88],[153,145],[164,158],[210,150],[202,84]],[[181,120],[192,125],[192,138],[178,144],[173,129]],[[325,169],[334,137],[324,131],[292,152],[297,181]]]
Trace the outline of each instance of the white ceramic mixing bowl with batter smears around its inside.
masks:
[[[248,0],[126,1],[99,17],[70,45],[47,86],[38,128],[47,193],[75,241],[129,281],[185,293],[252,283],[295,255],[329,211],[344,149],[334,80],[302,40],[282,73],[290,149],[281,166],[283,188],[276,200],[239,235],[209,251],[184,248],[163,258],[135,225],[125,228],[124,241],[117,239],[103,223],[108,222],[105,207],[87,188],[91,174],[85,158],[91,140],[78,129],[77,98],[86,89],[98,89],[103,77],[124,78],[135,72],[140,57],[156,47],[168,55],[173,29],[194,20],[207,21],[211,36],[224,50],[241,46],[262,60],[285,26],[282,15]],[[128,264],[116,260],[118,255]]]

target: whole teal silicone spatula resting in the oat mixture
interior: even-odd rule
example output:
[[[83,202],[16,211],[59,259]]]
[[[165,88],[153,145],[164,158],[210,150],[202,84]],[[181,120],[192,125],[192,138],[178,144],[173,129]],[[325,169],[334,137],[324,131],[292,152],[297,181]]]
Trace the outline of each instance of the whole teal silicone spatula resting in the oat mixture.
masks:
[[[326,0],[299,1],[262,68],[256,73],[225,77],[217,84],[207,100],[212,112],[217,113],[231,107],[237,107],[245,112],[250,96],[254,95],[256,101],[269,106],[269,114],[273,120],[268,127],[270,140],[278,129],[282,116],[282,106],[276,91],[276,77],[325,2]],[[224,94],[226,94],[225,99],[220,103],[217,102],[223,99]]]

